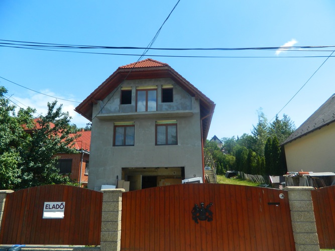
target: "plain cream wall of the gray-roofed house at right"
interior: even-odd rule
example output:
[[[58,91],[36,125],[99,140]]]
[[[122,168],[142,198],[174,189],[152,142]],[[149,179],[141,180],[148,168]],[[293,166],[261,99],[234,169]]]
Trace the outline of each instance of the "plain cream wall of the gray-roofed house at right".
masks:
[[[335,123],[285,145],[288,171],[335,172]]]

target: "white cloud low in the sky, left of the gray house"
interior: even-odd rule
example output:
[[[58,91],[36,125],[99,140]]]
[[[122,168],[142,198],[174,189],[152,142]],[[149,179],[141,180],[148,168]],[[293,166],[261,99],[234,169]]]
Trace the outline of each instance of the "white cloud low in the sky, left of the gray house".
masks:
[[[60,96],[60,94],[55,94],[51,92],[50,90],[42,90],[40,92],[50,95],[50,96],[62,98],[62,99],[76,100],[76,98],[74,97],[62,97]],[[12,97],[15,98],[15,100],[13,101],[16,102],[17,100],[18,102],[16,102],[16,104],[22,108],[27,108],[27,106],[35,108],[37,112],[36,114],[34,114],[34,116],[38,116],[39,114],[45,115],[48,111],[47,103],[48,102],[51,103],[54,100],[56,100],[56,98],[38,94],[32,91],[25,93],[25,96],[26,97],[24,98],[18,97],[17,95],[13,95]],[[82,115],[80,115],[78,112],[74,111],[74,108],[79,103],[57,99],[57,107],[61,104],[62,104],[62,111],[64,112],[68,111],[70,116],[72,117],[70,121],[71,124],[76,124],[78,128],[82,128],[82,127],[84,128],[86,126],[86,123],[88,123],[89,121],[86,118],[84,118]]]

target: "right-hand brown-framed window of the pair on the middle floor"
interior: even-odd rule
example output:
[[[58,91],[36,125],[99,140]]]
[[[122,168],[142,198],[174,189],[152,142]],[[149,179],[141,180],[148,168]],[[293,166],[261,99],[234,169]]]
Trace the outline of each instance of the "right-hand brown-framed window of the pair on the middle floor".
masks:
[[[176,120],[156,121],[156,145],[177,145]]]

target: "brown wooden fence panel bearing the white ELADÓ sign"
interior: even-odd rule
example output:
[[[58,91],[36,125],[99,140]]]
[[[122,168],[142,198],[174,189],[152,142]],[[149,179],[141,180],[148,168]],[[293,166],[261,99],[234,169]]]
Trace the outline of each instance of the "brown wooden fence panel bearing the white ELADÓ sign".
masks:
[[[43,219],[44,202],[65,202],[63,219]],[[99,245],[102,193],[64,185],[32,187],[6,197],[1,244]]]

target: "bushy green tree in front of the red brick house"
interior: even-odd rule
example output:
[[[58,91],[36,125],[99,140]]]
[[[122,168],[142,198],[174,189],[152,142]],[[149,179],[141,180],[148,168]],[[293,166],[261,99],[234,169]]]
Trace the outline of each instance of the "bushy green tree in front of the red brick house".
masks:
[[[67,176],[59,174],[58,153],[75,153],[71,148],[75,139],[76,129],[70,126],[68,112],[62,111],[62,105],[57,107],[57,101],[48,102],[48,112],[37,119],[35,129],[31,134],[28,148],[22,156],[22,181],[20,188],[46,184],[62,184],[69,181]]]

